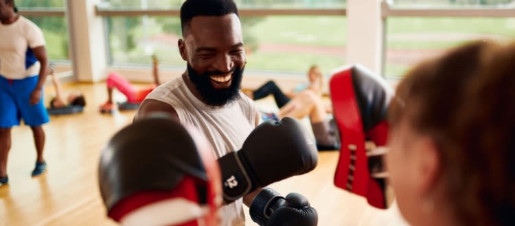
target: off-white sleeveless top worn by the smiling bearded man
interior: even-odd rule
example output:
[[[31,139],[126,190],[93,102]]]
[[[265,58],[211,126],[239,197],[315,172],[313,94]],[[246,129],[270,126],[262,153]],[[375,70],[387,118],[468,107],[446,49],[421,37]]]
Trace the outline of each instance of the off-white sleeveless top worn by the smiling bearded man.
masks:
[[[183,77],[178,77],[155,88],[146,99],[172,105],[181,123],[194,125],[214,147],[216,158],[242,148],[244,140],[255,127],[258,109],[240,91],[240,98],[221,108],[206,105],[187,88]],[[221,225],[244,225],[242,199],[220,208]]]

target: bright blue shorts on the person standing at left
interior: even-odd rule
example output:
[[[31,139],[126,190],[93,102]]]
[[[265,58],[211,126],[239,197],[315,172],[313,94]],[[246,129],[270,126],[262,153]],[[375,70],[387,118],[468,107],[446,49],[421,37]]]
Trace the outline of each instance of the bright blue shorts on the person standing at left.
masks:
[[[43,104],[43,90],[39,103],[30,104],[30,94],[38,84],[38,76],[25,79],[6,79],[0,75],[0,128],[20,125],[37,127],[48,123],[48,113]]]

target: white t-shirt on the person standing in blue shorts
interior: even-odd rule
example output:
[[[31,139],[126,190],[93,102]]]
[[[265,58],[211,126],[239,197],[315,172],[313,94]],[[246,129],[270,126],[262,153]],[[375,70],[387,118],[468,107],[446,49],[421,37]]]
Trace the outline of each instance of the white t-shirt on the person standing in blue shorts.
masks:
[[[40,65],[32,49],[44,45],[41,29],[25,17],[9,25],[0,23],[0,75],[8,79],[38,75]]]

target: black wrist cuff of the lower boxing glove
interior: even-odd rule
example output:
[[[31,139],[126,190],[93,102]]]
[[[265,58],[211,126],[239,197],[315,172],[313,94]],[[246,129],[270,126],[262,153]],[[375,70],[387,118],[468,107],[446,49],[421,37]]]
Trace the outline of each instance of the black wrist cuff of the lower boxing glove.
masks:
[[[279,206],[284,205],[286,199],[272,188],[263,188],[253,199],[250,214],[252,221],[259,225],[266,225],[270,216]]]

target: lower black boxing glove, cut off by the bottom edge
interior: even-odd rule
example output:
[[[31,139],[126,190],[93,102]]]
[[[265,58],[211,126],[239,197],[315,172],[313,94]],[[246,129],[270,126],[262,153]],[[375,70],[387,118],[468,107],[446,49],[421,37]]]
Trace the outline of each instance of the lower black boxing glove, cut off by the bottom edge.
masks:
[[[268,226],[314,226],[318,224],[317,210],[310,206],[306,197],[290,193],[286,198],[271,188],[264,188],[252,201],[252,221]]]

